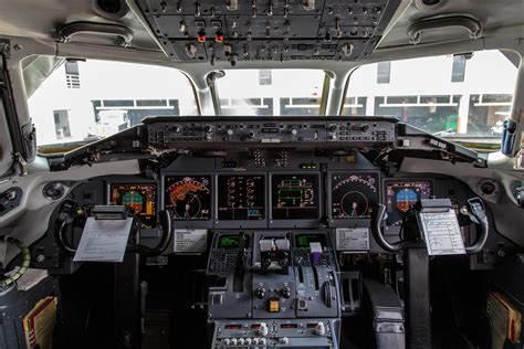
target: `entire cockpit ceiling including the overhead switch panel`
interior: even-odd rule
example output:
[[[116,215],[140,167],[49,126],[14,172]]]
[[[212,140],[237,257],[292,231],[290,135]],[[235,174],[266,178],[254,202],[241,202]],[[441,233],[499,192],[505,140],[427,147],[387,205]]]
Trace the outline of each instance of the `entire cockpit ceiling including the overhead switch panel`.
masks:
[[[0,34],[64,42],[71,23],[120,25],[130,31],[128,50],[158,53],[171,62],[355,61],[373,52],[404,47],[418,21],[462,17],[481,27],[480,38],[522,38],[522,0],[0,0]],[[431,6],[431,3],[433,3]],[[253,17],[254,15],[254,17]],[[75,33],[72,43],[105,50],[122,46],[118,35]],[[90,28],[87,27],[87,30]],[[74,36],[74,38],[73,38]],[[120,35],[122,36],[122,35]],[[423,31],[420,44],[474,42],[463,28]],[[481,47],[480,45],[479,47]],[[417,51],[420,54],[420,45]],[[423,50],[423,49],[422,49]],[[66,50],[65,50],[66,51]],[[119,51],[122,52],[122,51]],[[448,53],[442,45],[442,53]],[[431,54],[436,54],[434,47]],[[388,57],[388,54],[380,54]],[[394,59],[394,57],[391,57]]]

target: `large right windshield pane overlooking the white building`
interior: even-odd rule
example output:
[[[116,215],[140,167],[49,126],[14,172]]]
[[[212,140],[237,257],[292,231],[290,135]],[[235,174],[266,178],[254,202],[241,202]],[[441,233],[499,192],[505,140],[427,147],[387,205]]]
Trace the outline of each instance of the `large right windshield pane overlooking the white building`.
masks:
[[[497,150],[516,74],[500,51],[369,64],[350,75],[343,115],[395,116],[470,148]]]

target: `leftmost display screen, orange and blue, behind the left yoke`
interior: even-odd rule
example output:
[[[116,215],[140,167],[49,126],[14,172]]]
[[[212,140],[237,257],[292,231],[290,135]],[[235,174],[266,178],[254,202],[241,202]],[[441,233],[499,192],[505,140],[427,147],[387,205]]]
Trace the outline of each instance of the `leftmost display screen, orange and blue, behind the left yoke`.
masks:
[[[109,191],[109,203],[133,209],[142,222],[142,228],[157,226],[157,184],[113,183]]]

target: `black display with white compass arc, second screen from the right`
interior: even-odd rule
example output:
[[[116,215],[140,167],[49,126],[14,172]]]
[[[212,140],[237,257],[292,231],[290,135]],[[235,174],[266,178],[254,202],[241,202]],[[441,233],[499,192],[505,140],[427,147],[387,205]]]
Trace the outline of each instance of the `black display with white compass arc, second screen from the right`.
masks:
[[[332,218],[368,219],[378,203],[377,173],[333,173]]]

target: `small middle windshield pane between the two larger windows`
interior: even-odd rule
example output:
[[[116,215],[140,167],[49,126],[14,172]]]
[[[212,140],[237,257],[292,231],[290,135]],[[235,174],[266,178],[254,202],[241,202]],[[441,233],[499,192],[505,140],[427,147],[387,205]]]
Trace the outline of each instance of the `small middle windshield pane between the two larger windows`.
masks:
[[[226,71],[216,87],[222,115],[319,115],[324,77],[315,70]]]

